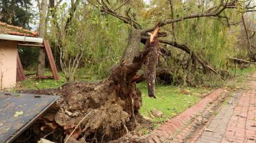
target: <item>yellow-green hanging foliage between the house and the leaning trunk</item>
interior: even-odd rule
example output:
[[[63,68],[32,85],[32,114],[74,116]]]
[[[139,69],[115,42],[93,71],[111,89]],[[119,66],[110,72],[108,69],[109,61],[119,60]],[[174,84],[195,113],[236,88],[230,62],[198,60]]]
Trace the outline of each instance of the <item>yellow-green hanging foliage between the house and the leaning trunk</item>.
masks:
[[[119,63],[121,59],[127,36],[119,35],[126,35],[127,27],[120,20],[102,14],[92,6],[80,5],[66,30],[63,22],[67,18],[63,14],[65,9],[67,5],[61,5],[56,13],[57,16],[51,20],[53,26],[48,38],[51,43],[55,43],[53,45],[61,43],[59,52],[62,52],[61,60],[66,65],[70,59],[79,54],[81,56],[79,67],[97,74],[99,78],[105,78],[110,73],[110,67]],[[57,20],[58,26],[54,25],[54,20]],[[59,35],[61,35],[60,42]],[[64,67],[67,68],[69,67]]]

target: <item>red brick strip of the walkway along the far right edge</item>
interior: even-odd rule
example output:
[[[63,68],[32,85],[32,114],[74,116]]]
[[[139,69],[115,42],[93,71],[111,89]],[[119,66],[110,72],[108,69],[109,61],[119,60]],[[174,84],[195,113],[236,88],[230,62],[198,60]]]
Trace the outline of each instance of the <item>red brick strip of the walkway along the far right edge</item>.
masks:
[[[255,83],[253,84],[255,85]],[[256,87],[256,86],[255,86]],[[224,142],[256,142],[256,92],[244,92],[228,123]]]

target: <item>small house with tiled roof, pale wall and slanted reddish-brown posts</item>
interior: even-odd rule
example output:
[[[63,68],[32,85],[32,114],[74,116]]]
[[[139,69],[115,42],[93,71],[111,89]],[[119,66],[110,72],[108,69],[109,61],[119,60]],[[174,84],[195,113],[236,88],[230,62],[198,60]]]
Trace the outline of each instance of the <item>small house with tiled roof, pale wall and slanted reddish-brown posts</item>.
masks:
[[[0,90],[13,88],[17,80],[25,78],[18,57],[18,45],[46,48],[53,76],[59,79],[48,41],[38,38],[37,32],[0,22]]]

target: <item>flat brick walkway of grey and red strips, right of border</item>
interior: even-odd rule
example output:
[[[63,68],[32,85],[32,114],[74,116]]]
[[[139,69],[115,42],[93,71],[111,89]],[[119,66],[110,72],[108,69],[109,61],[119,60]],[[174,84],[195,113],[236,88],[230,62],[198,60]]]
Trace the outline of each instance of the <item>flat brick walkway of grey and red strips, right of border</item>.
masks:
[[[222,105],[198,143],[256,143],[256,82],[252,90],[234,94]]]

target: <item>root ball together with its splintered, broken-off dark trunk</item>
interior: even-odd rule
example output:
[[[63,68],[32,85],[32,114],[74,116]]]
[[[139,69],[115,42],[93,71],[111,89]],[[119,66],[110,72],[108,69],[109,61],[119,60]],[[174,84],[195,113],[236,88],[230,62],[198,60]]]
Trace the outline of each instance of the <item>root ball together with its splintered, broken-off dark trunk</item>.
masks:
[[[131,63],[124,61],[113,68],[110,77],[102,82],[75,82],[65,84],[59,89],[30,92],[60,96],[57,104],[42,115],[39,120],[42,126],[32,127],[32,130],[40,129],[38,134],[44,132],[45,126],[51,128],[52,132],[55,129],[64,130],[61,135],[64,134],[62,138],[66,138],[67,142],[81,138],[86,142],[108,142],[135,129],[137,123],[144,121],[139,113],[142,100],[136,82],[141,80],[141,76],[137,71],[141,69],[152,49],[156,48],[152,46],[158,44],[157,38],[154,38],[158,35],[158,30],[151,36],[154,41],[148,40],[144,50]],[[48,139],[63,142],[61,138],[54,138],[53,135],[49,135]]]

